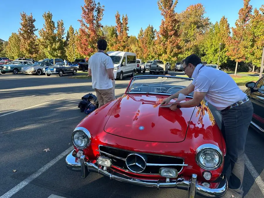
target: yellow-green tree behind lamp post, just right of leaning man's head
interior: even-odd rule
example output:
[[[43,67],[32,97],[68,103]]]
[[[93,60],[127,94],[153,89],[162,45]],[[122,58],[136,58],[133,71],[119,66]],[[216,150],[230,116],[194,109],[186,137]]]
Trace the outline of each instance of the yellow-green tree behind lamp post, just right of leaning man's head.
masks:
[[[224,16],[221,18],[220,22],[216,22],[203,39],[205,56],[202,60],[209,64],[217,64],[219,57],[219,65],[225,64],[229,57],[226,55],[227,48],[226,43],[230,36],[229,23],[227,18]],[[220,50],[220,55],[219,55]]]

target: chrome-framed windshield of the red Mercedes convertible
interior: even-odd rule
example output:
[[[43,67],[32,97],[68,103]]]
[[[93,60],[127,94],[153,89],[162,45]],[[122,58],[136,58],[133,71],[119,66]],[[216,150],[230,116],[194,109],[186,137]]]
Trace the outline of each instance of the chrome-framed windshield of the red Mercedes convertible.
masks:
[[[184,77],[134,77],[127,93],[175,94],[188,87],[192,79]],[[189,95],[193,96],[193,92]]]

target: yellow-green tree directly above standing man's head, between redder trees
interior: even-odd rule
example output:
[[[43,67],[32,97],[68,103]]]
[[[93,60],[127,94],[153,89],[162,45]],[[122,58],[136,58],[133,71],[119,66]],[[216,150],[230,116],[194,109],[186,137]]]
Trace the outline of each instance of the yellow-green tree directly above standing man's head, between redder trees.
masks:
[[[105,40],[107,41],[107,49],[106,51],[114,51],[114,46],[117,41],[117,31],[115,26],[104,26],[102,28],[103,35]]]

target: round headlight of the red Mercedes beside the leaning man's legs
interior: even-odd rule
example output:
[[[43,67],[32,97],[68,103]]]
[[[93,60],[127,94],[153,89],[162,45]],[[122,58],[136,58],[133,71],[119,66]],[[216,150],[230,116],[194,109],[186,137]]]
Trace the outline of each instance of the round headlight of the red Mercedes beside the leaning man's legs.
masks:
[[[204,169],[216,169],[223,162],[222,152],[216,145],[204,144],[197,148],[196,161]]]

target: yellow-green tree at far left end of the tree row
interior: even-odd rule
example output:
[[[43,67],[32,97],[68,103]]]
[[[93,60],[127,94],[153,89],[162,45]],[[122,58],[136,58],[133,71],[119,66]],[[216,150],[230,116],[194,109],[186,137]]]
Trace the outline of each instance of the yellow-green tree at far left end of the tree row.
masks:
[[[6,55],[10,59],[14,60],[19,57],[22,57],[22,53],[20,51],[20,37],[17,33],[12,33],[8,39],[8,44],[6,46]]]

